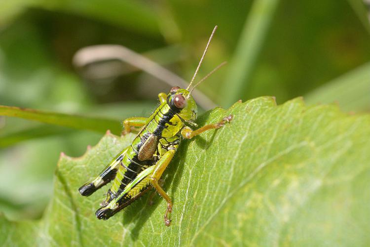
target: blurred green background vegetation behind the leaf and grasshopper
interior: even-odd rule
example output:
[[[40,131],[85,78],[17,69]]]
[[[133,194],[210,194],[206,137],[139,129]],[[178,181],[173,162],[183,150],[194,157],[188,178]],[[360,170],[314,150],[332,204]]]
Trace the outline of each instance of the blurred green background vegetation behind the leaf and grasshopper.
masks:
[[[76,51],[120,44],[189,81],[215,25],[197,78],[229,62],[199,86],[216,105],[303,95],[309,104],[369,111],[370,26],[361,0],[1,1],[0,105],[117,122],[148,116],[168,84],[117,61],[76,68]],[[80,156],[101,137],[0,117],[0,211],[39,218],[60,153]]]

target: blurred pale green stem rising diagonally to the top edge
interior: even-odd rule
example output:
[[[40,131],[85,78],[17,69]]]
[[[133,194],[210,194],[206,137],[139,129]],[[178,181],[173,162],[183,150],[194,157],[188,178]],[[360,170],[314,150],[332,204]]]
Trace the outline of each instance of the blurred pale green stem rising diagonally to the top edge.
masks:
[[[223,90],[223,106],[229,106],[239,99],[240,92],[248,85],[252,70],[261,49],[278,0],[255,0],[242,34],[228,65]]]

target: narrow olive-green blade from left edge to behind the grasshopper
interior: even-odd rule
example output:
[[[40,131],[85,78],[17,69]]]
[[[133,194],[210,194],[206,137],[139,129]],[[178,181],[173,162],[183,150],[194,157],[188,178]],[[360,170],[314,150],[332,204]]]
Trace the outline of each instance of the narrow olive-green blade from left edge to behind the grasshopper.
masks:
[[[38,121],[45,124],[55,124],[102,133],[106,132],[107,129],[110,129],[112,133],[119,134],[122,129],[119,120],[46,112],[14,106],[0,106],[0,116],[16,117]]]

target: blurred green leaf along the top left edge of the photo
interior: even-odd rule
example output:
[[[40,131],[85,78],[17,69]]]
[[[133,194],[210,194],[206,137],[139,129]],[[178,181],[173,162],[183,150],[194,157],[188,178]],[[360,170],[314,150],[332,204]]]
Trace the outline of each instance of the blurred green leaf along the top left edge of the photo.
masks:
[[[28,8],[74,13],[81,16],[120,25],[128,30],[160,38],[159,18],[150,6],[140,1],[128,0],[15,0],[0,2],[0,26],[9,22]]]

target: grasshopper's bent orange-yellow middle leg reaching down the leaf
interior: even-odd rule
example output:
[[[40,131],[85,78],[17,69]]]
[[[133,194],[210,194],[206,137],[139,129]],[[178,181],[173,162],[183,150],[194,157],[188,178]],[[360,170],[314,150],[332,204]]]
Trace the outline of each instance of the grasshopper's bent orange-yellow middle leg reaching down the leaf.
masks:
[[[168,213],[172,212],[172,200],[167,195],[167,193],[162,189],[159,185],[158,181],[162,176],[163,171],[166,169],[167,165],[170,163],[172,158],[175,155],[175,148],[168,150],[164,155],[159,159],[157,164],[155,165],[153,173],[149,176],[150,182],[153,185],[154,189],[161,195],[164,200],[167,202],[167,209],[164,214],[164,223],[166,226],[171,224],[171,220],[168,218]]]

